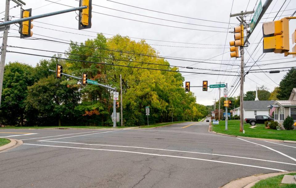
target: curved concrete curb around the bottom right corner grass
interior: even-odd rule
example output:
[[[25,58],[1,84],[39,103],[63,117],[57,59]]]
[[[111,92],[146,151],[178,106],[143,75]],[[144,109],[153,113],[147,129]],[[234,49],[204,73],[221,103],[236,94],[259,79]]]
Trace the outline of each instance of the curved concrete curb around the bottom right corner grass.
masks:
[[[290,174],[290,173],[295,173],[295,172],[278,172],[278,173],[270,173],[270,174],[255,174],[253,176],[245,177],[245,178],[240,178],[237,180],[233,180],[226,185],[220,187],[220,188],[251,188],[255,183],[259,182],[260,180],[282,175],[282,174]]]

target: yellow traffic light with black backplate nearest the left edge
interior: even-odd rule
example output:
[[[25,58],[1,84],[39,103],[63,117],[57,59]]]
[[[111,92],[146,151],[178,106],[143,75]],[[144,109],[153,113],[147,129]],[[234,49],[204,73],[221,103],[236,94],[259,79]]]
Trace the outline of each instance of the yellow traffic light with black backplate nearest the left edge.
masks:
[[[22,10],[21,18],[28,18],[31,17],[32,9]],[[24,21],[19,24],[19,33],[21,34],[21,39],[31,37],[33,35],[33,24],[31,23],[32,20]]]

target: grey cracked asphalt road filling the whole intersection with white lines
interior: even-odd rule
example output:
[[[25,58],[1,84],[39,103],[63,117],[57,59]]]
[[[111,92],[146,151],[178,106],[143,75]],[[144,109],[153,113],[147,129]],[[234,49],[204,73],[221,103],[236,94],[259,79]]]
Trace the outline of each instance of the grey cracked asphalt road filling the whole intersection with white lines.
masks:
[[[204,188],[296,170],[296,144],[216,135],[208,132],[208,125],[0,129],[0,137],[24,142],[0,153],[0,187]]]

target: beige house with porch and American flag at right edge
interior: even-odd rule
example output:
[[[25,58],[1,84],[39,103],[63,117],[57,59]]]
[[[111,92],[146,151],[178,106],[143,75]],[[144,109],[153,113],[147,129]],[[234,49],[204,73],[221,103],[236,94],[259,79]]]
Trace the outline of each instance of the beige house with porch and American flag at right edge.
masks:
[[[296,88],[293,88],[289,100],[276,100],[272,106],[275,107],[273,111],[274,121],[278,121],[282,125],[287,116],[296,121]]]

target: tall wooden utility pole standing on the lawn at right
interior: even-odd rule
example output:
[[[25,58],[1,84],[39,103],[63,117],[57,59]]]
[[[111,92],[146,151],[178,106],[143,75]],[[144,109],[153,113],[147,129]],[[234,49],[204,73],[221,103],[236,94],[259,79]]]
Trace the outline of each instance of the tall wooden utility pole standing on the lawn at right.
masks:
[[[243,20],[242,16],[241,19]],[[241,24],[243,21],[241,20]],[[244,46],[240,47],[241,50],[241,94],[240,94],[240,132],[244,132]]]

